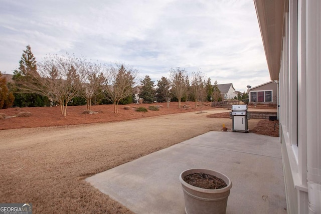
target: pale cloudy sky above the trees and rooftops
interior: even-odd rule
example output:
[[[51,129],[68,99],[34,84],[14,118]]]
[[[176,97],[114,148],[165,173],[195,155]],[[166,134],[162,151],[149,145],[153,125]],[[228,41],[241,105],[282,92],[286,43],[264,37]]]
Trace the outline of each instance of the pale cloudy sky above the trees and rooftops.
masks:
[[[67,52],[155,84],[176,67],[241,92],[270,81],[253,0],[0,0],[0,71],[27,45],[38,62]]]

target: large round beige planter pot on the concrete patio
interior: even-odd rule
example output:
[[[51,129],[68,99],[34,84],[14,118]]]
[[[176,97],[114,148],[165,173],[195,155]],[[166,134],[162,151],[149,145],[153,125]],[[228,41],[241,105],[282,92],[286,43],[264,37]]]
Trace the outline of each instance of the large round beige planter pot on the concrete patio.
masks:
[[[183,178],[192,173],[206,173],[221,178],[227,184],[221,189],[204,189],[188,184]],[[231,180],[224,174],[210,169],[188,169],[180,174],[182,183],[185,211],[187,214],[195,213],[226,213],[227,198],[232,188]]]

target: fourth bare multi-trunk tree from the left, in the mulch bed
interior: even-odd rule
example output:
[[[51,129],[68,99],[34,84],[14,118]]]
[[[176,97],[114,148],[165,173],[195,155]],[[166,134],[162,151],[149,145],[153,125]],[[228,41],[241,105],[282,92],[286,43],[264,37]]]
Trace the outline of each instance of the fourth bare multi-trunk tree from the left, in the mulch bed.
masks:
[[[187,93],[186,80],[188,79],[187,72],[185,69],[179,67],[170,70],[171,82],[172,82],[172,93],[179,100],[179,108],[181,108],[182,97]]]

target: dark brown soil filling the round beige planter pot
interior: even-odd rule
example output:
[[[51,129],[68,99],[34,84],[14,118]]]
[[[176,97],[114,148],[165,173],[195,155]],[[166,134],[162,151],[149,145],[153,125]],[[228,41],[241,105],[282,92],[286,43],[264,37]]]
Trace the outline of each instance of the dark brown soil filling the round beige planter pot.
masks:
[[[223,179],[206,173],[188,174],[183,180],[190,185],[203,189],[221,189],[227,186]]]

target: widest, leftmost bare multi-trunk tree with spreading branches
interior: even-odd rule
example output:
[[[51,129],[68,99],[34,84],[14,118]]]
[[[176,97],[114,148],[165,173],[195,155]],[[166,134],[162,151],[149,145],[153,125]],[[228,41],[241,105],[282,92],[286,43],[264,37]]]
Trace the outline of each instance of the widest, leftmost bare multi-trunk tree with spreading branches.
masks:
[[[84,75],[81,73],[82,59],[66,55],[47,55],[37,65],[37,72],[19,81],[19,88],[26,93],[47,96],[60,105],[61,115],[67,116],[67,105],[79,95]]]

